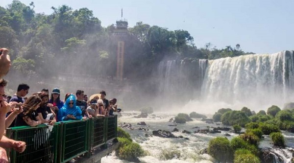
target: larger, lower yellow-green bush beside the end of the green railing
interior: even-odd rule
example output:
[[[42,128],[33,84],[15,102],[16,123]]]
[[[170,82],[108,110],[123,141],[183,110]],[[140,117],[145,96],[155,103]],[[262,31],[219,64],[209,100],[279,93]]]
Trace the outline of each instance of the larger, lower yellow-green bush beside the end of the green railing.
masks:
[[[137,162],[138,157],[143,157],[146,155],[142,147],[135,142],[131,142],[125,138],[118,138],[119,140],[119,149],[117,149],[117,155],[119,158],[130,161]]]

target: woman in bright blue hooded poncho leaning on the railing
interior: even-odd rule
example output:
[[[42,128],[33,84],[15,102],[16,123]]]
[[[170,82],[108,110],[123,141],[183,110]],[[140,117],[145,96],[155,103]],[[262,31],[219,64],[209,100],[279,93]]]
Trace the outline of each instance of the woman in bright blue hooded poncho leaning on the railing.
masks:
[[[82,111],[75,104],[75,96],[71,94],[65,101],[64,106],[58,111],[58,119],[60,119],[60,121],[82,119]]]

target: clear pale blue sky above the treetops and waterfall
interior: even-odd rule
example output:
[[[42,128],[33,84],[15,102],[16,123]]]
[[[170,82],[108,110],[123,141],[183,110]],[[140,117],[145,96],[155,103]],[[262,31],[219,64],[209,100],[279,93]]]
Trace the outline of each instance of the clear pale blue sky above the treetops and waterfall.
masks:
[[[20,0],[35,3],[37,13],[51,14],[51,6],[93,10],[102,26],[123,18],[129,27],[142,21],[170,30],[184,29],[196,46],[217,48],[240,44],[244,51],[274,53],[294,50],[294,0]],[[0,0],[7,7],[12,0]]]

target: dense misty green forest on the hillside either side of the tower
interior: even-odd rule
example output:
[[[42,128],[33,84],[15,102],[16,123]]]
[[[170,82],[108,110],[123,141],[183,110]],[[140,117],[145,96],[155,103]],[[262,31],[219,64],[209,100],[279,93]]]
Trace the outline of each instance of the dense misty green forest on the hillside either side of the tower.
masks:
[[[37,3],[18,0],[0,7],[0,47],[10,49],[12,70],[27,78],[50,78],[59,73],[115,76],[115,25],[101,21],[87,8],[51,7],[52,13],[35,13]],[[125,47],[126,78],[148,76],[152,67],[167,59],[217,59],[248,54],[236,47],[222,49],[208,43],[197,48],[188,31],[171,31],[143,22],[129,27]],[[136,68],[136,72],[134,72]],[[140,70],[143,70],[140,72]]]

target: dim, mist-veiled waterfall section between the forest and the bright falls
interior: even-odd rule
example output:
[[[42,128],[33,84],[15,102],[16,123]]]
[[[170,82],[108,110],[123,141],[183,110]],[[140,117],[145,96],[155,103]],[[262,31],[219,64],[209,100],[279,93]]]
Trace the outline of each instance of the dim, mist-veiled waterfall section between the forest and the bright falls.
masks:
[[[207,60],[170,60],[158,66],[159,94],[170,100],[190,100],[199,96]]]

